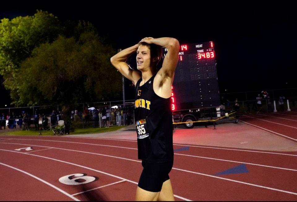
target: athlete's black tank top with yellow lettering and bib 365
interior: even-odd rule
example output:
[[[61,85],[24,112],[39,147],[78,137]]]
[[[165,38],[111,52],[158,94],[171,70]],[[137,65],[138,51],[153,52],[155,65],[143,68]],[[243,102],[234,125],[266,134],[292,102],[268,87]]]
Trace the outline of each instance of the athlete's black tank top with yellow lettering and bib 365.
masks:
[[[138,159],[148,163],[173,161],[171,99],[153,90],[153,75],[142,86],[135,85],[135,121]]]

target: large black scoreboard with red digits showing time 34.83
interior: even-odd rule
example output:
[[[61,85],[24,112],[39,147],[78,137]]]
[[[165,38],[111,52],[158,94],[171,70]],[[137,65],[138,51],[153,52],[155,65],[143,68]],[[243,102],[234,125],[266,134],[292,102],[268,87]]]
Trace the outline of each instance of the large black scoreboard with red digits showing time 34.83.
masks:
[[[171,99],[173,111],[220,105],[213,41],[180,45]]]

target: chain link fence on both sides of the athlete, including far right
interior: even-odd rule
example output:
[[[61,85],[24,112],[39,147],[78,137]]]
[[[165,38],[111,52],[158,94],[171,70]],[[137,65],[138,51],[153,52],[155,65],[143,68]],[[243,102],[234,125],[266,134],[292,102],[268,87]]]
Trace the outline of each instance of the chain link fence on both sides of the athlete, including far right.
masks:
[[[257,105],[260,91],[221,93],[221,110],[237,110],[241,113],[261,113],[296,109],[297,88],[266,90],[270,99],[262,97]],[[279,97],[284,96],[284,105]],[[237,98],[238,101],[235,101]],[[275,106],[274,106],[275,102]],[[238,104],[236,104],[238,103]],[[235,105],[236,104],[236,105]],[[70,106],[71,125],[75,128],[112,127],[135,123],[134,100],[78,103]],[[0,108],[0,128],[23,128],[24,130],[51,129],[62,118],[61,105]]]

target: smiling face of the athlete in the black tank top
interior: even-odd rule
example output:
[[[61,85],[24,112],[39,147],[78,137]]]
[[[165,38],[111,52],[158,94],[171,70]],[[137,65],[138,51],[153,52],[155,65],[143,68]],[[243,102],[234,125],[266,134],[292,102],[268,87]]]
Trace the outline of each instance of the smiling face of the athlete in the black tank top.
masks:
[[[145,45],[140,45],[136,53],[137,69],[141,71],[146,68],[149,68],[151,62],[151,54],[149,47]]]

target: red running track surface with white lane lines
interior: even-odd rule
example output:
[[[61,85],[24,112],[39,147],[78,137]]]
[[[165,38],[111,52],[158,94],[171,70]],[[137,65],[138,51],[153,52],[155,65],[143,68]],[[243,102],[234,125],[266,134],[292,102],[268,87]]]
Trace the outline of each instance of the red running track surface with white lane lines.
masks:
[[[240,120],[297,139],[297,113],[264,115],[249,114]],[[0,139],[0,200],[134,200],[142,171],[135,141],[67,136]],[[26,147],[33,150],[15,150]],[[189,145],[189,150],[175,152],[170,179],[175,200],[296,201],[296,162],[297,152]],[[242,164],[248,173],[214,175]],[[78,173],[96,180],[81,185],[59,182]]]

